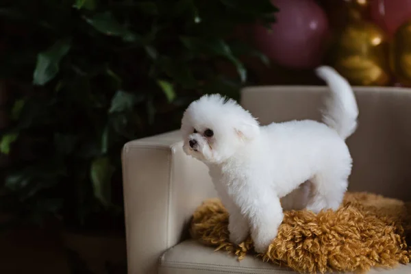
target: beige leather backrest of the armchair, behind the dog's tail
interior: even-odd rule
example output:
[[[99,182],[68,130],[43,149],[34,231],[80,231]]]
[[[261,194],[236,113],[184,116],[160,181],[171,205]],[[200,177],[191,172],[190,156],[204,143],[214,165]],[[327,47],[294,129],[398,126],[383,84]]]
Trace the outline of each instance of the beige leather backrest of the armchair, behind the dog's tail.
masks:
[[[411,89],[354,88],[360,110],[347,144],[353,157],[350,191],[411,200]],[[326,86],[266,86],[242,90],[242,105],[262,125],[321,121]]]

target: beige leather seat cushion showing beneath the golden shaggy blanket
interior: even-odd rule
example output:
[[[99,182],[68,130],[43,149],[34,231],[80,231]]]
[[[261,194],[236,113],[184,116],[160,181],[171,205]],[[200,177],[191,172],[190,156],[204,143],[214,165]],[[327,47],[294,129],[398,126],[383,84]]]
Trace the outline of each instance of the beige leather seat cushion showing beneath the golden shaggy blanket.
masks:
[[[259,258],[245,256],[238,262],[235,256],[224,251],[214,251],[195,240],[186,240],[166,251],[160,258],[160,274],[295,274],[283,266],[262,262]],[[395,269],[373,269],[368,274],[410,274],[411,264],[400,264]]]

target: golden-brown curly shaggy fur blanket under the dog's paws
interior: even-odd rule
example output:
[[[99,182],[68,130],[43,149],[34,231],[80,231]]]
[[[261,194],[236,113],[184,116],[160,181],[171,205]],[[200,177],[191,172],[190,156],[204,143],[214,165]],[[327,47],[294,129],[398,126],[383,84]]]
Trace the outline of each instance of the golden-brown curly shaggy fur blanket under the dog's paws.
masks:
[[[364,273],[373,266],[395,267],[410,262],[406,238],[411,207],[403,201],[368,193],[347,193],[336,212],[284,212],[284,221],[265,254],[267,262],[300,273],[326,271]],[[229,242],[228,214],[219,199],[203,202],[192,216],[190,234],[205,245],[235,254],[253,253],[251,237],[239,246]]]

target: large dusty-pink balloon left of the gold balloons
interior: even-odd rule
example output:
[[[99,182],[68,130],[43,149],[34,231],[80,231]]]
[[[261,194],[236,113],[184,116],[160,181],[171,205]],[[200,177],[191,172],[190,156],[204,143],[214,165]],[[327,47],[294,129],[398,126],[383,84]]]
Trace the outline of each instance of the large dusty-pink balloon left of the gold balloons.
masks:
[[[329,27],[327,15],[313,0],[272,0],[279,8],[272,32],[255,29],[256,46],[271,60],[293,69],[321,64]]]

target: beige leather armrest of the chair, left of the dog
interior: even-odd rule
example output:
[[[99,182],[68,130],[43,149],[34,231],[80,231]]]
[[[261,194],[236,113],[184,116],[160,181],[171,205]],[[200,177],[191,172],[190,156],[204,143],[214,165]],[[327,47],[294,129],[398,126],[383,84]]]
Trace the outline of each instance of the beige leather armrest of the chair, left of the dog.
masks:
[[[206,165],[187,156],[179,140],[179,132],[169,132],[123,147],[129,274],[157,273],[160,255],[182,240],[195,208],[216,197]]]

